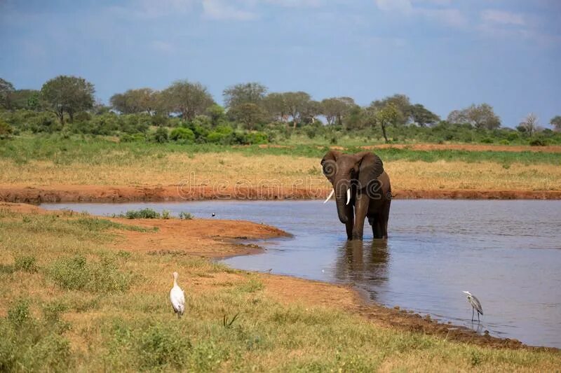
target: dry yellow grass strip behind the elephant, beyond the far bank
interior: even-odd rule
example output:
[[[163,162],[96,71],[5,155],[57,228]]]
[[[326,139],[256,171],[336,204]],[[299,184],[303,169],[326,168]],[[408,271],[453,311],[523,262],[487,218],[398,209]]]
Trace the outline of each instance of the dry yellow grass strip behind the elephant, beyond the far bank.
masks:
[[[495,162],[385,162],[394,189],[400,190],[559,190],[561,167],[555,164]],[[0,160],[4,185],[236,185],[329,188],[319,160],[288,155],[170,153],[140,157],[126,164],[57,164]]]

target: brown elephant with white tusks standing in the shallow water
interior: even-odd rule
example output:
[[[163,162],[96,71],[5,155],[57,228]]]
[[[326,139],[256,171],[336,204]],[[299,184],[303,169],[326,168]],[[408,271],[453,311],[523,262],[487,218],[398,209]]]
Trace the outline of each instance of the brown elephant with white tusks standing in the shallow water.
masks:
[[[363,239],[365,218],[372,225],[374,239],[387,239],[391,184],[380,157],[368,151],[343,154],[330,150],[323,156],[321,167],[333,185],[325,202],[335,195],[347,239]]]

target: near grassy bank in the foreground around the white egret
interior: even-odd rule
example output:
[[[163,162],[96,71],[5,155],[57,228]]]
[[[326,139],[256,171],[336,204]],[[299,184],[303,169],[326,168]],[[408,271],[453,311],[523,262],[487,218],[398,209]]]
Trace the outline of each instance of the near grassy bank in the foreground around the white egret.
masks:
[[[0,210],[0,371],[548,372],[561,365],[559,353],[447,342],[336,307],[280,303],[256,274],[189,255],[123,251],[123,229],[146,230]],[[174,270],[187,294],[181,320],[168,304]]]

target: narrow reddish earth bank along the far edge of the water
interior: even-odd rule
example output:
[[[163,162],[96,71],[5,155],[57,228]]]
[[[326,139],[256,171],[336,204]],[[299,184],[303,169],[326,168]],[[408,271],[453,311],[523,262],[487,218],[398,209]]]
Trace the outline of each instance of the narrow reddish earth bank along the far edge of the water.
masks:
[[[323,199],[326,188],[210,188],[184,185],[0,185],[0,202],[187,202],[212,199]],[[394,199],[561,199],[561,190],[394,190]]]

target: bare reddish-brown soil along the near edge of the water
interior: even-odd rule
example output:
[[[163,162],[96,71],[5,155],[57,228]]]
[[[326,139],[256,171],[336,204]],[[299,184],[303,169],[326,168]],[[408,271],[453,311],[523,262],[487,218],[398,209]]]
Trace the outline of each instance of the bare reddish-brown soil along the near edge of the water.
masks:
[[[29,204],[0,202],[0,209],[20,213],[52,213],[70,218],[77,216],[77,213],[72,211],[46,211]],[[147,255],[196,255],[212,259],[232,255],[251,255],[262,252],[263,248],[256,244],[244,244],[245,240],[290,237],[290,234],[278,230],[276,227],[241,220],[103,218],[122,224],[157,227],[157,231],[119,231],[121,237],[113,244],[119,250]],[[439,323],[430,316],[423,317],[397,306],[388,308],[374,304],[366,300],[360,290],[352,286],[276,274],[258,273],[257,276],[264,282],[266,294],[278,302],[299,302],[309,306],[342,309],[363,317],[381,328],[420,332],[491,348],[559,351],[555,348],[527,346],[517,339],[492,337],[487,333],[479,335],[464,326]],[[201,286],[203,285],[201,283]]]

